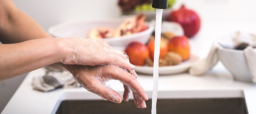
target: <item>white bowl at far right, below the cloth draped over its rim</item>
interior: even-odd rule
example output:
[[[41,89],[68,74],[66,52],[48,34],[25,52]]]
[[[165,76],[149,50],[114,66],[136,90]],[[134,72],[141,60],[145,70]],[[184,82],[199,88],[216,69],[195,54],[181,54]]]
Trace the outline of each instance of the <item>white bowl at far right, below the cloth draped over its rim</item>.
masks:
[[[235,80],[252,82],[252,75],[242,50],[219,48],[217,52],[219,60],[230,71]]]

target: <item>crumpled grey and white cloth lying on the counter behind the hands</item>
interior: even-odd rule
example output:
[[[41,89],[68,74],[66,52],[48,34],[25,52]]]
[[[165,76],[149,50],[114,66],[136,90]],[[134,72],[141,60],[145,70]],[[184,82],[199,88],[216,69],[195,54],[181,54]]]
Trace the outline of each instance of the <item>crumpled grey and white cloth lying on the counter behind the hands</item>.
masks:
[[[35,90],[49,92],[60,87],[81,87],[72,74],[45,67],[45,75],[33,78],[32,87]]]

